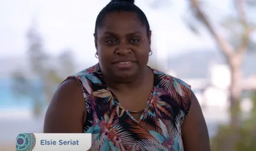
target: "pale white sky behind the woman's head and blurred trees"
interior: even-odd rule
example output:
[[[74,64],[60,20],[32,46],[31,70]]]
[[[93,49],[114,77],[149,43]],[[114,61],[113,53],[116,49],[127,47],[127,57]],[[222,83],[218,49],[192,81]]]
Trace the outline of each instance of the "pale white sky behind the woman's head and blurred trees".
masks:
[[[26,31],[34,23],[49,53],[58,54],[63,49],[70,48],[77,62],[96,63],[93,43],[95,20],[99,11],[108,2],[108,0],[0,0],[0,58],[26,55]],[[188,49],[215,46],[207,34],[196,37],[186,27],[182,21],[182,15],[186,14],[185,1],[172,1],[161,9],[149,8],[149,2],[151,1],[139,0],[135,4],[148,17],[153,43],[158,50],[158,59],[164,59],[166,53],[174,55],[184,53]],[[219,6],[218,2],[212,0],[211,5],[224,10],[227,8],[227,2]]]

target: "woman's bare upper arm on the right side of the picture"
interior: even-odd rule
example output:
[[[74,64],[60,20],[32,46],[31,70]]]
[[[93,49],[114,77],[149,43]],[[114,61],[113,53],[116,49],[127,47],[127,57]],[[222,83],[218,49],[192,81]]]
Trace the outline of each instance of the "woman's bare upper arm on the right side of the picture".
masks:
[[[191,107],[182,124],[182,139],[186,151],[210,151],[210,140],[198,99],[192,92]]]

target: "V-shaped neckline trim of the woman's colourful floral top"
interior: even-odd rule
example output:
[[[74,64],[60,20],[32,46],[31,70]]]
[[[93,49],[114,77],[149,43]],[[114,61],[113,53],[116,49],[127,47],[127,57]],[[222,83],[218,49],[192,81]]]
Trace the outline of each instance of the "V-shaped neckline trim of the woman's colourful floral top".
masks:
[[[141,115],[139,115],[139,119],[138,119],[138,120],[136,120],[136,118],[134,118],[133,115],[130,114],[130,110],[126,110],[125,108],[121,107],[121,104],[120,104],[119,100],[118,100],[117,97],[114,95],[114,93],[113,93],[112,91],[110,91],[110,89],[109,89],[108,86],[107,86],[107,83],[105,83],[105,86],[107,87],[106,89],[107,89],[108,91],[110,91],[112,97],[114,98],[113,101],[115,101],[115,108],[116,108],[116,111],[117,111],[117,116],[118,116],[118,117],[121,117],[121,116],[123,115],[123,113],[125,112],[125,113],[128,115],[128,117],[129,117],[133,122],[135,122],[135,123],[137,123],[137,124],[139,124],[139,123],[142,121],[143,117],[146,115],[146,112],[148,111],[148,108],[150,107],[151,100],[152,100],[152,97],[153,97],[153,94],[154,94],[154,87],[155,87],[155,70],[152,69],[152,68],[150,68],[149,66],[147,66],[147,67],[153,72],[153,88],[152,88],[152,90],[151,90],[151,92],[150,92],[150,94],[149,94],[148,101],[146,102],[145,108],[144,108],[143,111],[141,112]],[[99,68],[99,70],[100,70],[100,68]],[[120,108],[121,108],[122,111],[124,110],[121,115],[120,115]]]

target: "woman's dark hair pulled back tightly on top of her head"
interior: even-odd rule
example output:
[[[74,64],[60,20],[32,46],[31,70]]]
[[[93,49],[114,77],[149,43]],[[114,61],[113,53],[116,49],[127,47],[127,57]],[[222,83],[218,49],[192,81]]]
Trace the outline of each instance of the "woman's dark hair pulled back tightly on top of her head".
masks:
[[[96,18],[95,24],[95,33],[97,33],[97,28],[102,25],[102,20],[105,15],[109,12],[115,11],[127,11],[127,12],[135,12],[138,14],[139,19],[141,20],[143,25],[146,25],[146,31],[149,32],[149,23],[148,19],[144,12],[134,4],[135,0],[111,0],[98,14]],[[148,33],[147,32],[147,33]]]

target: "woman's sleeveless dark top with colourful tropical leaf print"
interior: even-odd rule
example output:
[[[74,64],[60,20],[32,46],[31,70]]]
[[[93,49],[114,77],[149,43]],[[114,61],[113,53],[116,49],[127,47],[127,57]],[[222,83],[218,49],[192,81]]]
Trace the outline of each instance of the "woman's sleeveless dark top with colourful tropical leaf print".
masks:
[[[191,86],[152,69],[154,89],[145,110],[135,120],[120,112],[118,99],[108,89],[99,64],[67,79],[76,79],[85,98],[87,117],[83,132],[92,133],[93,151],[183,149],[181,126],[191,105]]]

